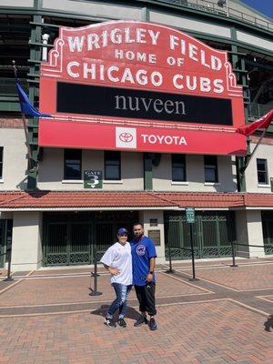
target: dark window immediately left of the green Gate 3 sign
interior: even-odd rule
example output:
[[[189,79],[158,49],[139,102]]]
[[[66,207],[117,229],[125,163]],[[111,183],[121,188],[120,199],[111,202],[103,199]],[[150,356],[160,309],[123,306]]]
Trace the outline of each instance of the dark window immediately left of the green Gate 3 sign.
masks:
[[[82,151],[81,149],[65,149],[65,179],[81,179]]]

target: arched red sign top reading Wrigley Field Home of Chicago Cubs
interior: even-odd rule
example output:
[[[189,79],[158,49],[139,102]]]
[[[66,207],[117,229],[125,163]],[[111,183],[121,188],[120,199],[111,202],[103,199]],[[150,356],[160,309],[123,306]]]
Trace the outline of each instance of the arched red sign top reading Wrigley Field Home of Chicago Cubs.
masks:
[[[242,96],[219,51],[164,25],[137,21],[61,27],[42,76],[204,96]]]

